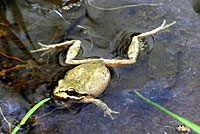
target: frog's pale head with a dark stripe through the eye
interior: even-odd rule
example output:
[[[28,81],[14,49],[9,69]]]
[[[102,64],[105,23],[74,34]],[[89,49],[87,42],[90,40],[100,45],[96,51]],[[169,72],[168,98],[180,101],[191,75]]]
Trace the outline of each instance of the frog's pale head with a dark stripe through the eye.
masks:
[[[74,87],[65,87],[64,81],[59,80],[58,86],[53,91],[53,96],[63,100],[82,100],[87,94],[80,94]]]

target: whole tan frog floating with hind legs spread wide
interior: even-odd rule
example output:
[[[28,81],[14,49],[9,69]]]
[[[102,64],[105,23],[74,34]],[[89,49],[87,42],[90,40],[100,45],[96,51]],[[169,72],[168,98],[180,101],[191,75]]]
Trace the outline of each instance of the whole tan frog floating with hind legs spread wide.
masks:
[[[53,96],[56,99],[67,100],[74,103],[93,103],[104,111],[104,116],[108,115],[111,119],[114,119],[113,114],[119,114],[119,112],[112,110],[106,103],[97,98],[109,85],[111,74],[108,67],[134,64],[140,51],[144,49],[144,44],[141,40],[168,28],[175,23],[176,21],[166,24],[166,21],[164,20],[161,26],[151,31],[133,36],[128,47],[127,59],[75,59],[80,51],[80,40],[64,41],[52,45],[38,43],[41,48],[32,50],[32,52],[51,52],[52,50],[69,46],[65,57],[65,63],[77,66],[69,70],[64,78],[58,81],[58,86],[53,90]]]

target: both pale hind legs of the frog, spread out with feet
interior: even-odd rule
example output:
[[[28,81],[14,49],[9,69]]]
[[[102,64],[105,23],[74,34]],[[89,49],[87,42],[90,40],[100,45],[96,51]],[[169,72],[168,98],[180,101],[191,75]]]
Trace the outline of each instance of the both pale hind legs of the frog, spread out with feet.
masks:
[[[103,59],[103,58],[80,59],[80,60],[74,59],[80,50],[80,45],[81,45],[80,40],[65,41],[63,43],[53,44],[53,45],[44,45],[44,44],[38,43],[41,46],[41,48],[37,50],[32,50],[31,52],[46,51],[47,53],[49,51],[71,45],[66,55],[66,59],[65,59],[66,64],[77,65],[77,64],[88,63],[91,61],[98,61],[98,60],[102,60],[106,66],[120,66],[120,65],[126,65],[126,64],[134,64],[140,52],[140,47],[143,46],[143,44],[141,44],[141,41],[140,41],[142,38],[158,33],[176,23],[176,21],[174,21],[170,24],[165,25],[165,22],[166,21],[164,20],[163,24],[160,27],[155,28],[154,30],[134,36],[128,48],[128,59]]]

